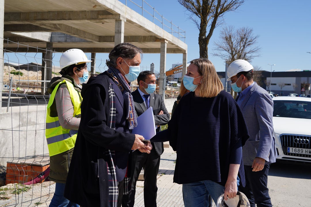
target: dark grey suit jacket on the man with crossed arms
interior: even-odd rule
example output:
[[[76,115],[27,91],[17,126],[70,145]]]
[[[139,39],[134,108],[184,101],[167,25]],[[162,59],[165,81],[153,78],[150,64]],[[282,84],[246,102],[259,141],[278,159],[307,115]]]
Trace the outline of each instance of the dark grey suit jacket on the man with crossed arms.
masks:
[[[145,101],[142,99],[138,89],[132,92],[135,110],[137,116],[144,113],[147,110]],[[153,115],[155,119],[156,126],[165,125],[169,122],[169,112],[166,110],[162,96],[159,94],[151,93],[150,94],[150,107],[153,109]],[[158,115],[160,111],[163,111],[163,115]],[[161,127],[156,129],[156,132],[159,132]],[[153,149],[156,150],[157,155],[161,155],[164,151],[163,142],[152,142]]]

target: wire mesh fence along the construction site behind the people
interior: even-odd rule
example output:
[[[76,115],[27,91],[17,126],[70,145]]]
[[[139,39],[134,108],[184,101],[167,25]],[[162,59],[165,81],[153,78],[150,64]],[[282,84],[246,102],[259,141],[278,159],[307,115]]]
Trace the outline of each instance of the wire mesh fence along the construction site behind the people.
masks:
[[[35,48],[37,52],[21,52],[29,48],[3,40],[2,109],[0,112],[0,206],[48,206],[55,190],[55,182],[46,177],[49,170],[49,151],[45,141],[46,106],[49,79],[59,74],[62,51]],[[10,48],[17,48],[11,51]],[[12,45],[14,45],[12,47]],[[33,47],[31,51],[33,51]],[[48,58],[47,54],[53,55]],[[92,59],[96,66],[89,66],[94,73],[107,70],[105,60]],[[93,68],[92,68],[93,67]],[[0,68],[1,69],[1,68]],[[48,77],[47,71],[52,72]],[[142,66],[141,70],[151,70]],[[154,71],[157,83],[163,81],[165,105],[169,113],[178,95],[179,85],[170,83],[165,75]],[[167,79],[167,80],[166,80]],[[132,91],[138,87],[132,82]],[[45,181],[45,182],[44,182]]]

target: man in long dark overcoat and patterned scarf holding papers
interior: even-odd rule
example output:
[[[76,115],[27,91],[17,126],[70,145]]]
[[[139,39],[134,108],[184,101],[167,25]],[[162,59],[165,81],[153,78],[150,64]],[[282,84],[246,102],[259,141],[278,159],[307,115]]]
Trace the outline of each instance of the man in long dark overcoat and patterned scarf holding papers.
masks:
[[[130,153],[151,152],[143,136],[130,133],[137,116],[129,83],[139,74],[141,54],[130,43],[116,45],[108,70],[82,87],[81,122],[64,191],[80,206],[121,207]]]

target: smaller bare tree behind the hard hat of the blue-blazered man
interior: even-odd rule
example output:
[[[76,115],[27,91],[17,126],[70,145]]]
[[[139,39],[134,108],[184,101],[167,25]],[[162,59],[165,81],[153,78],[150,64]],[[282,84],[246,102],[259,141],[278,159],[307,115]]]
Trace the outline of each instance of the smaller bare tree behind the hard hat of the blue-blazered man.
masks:
[[[215,42],[212,54],[221,57],[228,64],[238,59],[250,62],[254,57],[260,56],[261,48],[256,46],[258,37],[249,27],[236,30],[233,26],[225,27],[220,32],[220,39]]]

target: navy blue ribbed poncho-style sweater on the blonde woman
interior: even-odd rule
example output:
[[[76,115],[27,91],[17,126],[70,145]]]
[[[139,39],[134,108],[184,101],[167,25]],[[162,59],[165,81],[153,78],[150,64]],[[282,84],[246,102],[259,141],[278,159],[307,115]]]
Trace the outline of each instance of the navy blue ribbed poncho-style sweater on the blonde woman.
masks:
[[[190,92],[178,104],[168,129],[152,141],[157,138],[169,140],[177,152],[174,182],[212,180],[225,186],[229,165],[240,164],[248,131],[229,93],[221,91],[216,97],[202,98]],[[239,172],[242,170],[243,163]],[[244,182],[244,172],[240,176]]]

